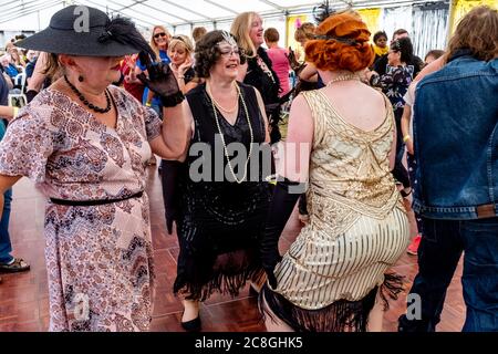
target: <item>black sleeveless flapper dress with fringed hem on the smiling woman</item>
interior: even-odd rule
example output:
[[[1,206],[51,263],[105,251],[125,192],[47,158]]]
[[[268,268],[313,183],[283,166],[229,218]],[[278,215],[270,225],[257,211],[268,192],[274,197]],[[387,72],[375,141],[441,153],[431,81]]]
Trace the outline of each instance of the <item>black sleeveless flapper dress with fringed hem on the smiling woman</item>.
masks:
[[[238,85],[249,113],[253,143],[262,144],[266,129],[255,88],[242,83]],[[249,152],[250,131],[241,100],[239,97],[239,114],[234,125],[222,117],[221,112],[217,111],[217,115],[226,144],[242,143]],[[215,178],[216,158],[222,160],[224,174],[221,181],[194,181],[189,170],[199,170],[198,155],[188,156],[183,164],[177,186],[180,251],[174,292],[187,300],[199,301],[208,299],[215,291],[235,296],[248,280],[259,281],[263,275],[258,244],[270,200],[269,184],[261,173],[263,158],[260,156],[256,168],[257,181],[252,181],[252,178],[241,184],[227,180],[226,174],[230,171],[222,145],[215,148],[218,127],[206,84],[191,90],[187,101],[195,124],[190,152],[193,144],[207,144],[211,154],[203,158],[206,164],[211,164],[211,178]],[[248,168],[255,168],[251,166],[255,162],[251,160]],[[219,174],[219,166],[216,167]],[[203,168],[200,170],[204,171]],[[237,174],[237,168],[235,171]]]

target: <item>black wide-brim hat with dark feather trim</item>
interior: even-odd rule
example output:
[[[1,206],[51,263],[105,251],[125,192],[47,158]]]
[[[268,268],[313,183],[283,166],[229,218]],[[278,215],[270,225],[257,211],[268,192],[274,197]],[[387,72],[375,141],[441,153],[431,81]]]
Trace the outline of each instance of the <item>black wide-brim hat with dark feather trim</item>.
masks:
[[[55,12],[46,29],[15,45],[84,56],[122,56],[141,51],[154,53],[131,20],[111,20],[105,12],[83,6],[70,6]]]

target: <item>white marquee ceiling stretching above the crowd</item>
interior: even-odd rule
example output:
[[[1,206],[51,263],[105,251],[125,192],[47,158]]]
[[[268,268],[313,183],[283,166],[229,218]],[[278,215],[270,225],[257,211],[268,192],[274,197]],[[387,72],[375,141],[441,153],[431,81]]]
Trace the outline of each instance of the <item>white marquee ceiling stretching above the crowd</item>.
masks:
[[[402,6],[424,0],[331,0],[335,8]],[[132,18],[137,25],[196,25],[231,21],[243,11],[257,11],[262,17],[310,13],[321,0],[0,0],[0,31],[39,31],[51,15],[68,4],[98,8],[110,14]]]

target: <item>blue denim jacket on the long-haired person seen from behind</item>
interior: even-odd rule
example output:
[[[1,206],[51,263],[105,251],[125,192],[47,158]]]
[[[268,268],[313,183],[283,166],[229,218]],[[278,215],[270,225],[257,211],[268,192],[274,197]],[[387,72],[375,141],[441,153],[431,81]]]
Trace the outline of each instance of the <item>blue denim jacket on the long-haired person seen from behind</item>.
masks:
[[[413,208],[426,218],[498,214],[498,59],[463,54],[417,85]]]

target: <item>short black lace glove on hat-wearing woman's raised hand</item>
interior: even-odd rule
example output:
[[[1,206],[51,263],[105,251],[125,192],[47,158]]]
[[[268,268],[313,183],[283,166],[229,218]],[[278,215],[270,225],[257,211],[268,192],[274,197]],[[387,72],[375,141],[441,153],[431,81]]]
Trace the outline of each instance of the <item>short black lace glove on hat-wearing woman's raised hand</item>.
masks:
[[[141,63],[147,67],[148,77],[145,73],[139,73],[136,77],[160,97],[163,106],[174,107],[185,100],[168,64],[153,63],[151,55],[146,52],[141,52],[138,58]]]

